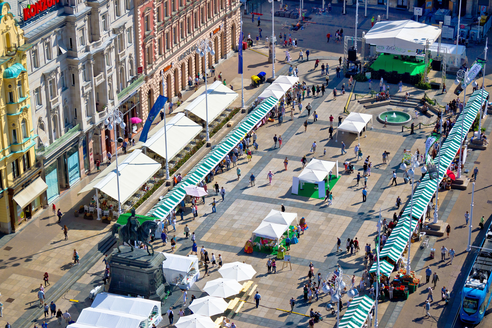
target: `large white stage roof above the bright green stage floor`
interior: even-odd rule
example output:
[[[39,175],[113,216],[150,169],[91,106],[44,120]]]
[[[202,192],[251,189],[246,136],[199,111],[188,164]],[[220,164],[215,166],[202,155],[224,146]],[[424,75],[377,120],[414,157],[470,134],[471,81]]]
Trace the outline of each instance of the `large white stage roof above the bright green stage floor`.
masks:
[[[424,49],[427,40],[432,44],[440,34],[438,27],[401,20],[376,22],[365,38],[366,43],[376,45],[378,52],[415,56],[415,51]]]

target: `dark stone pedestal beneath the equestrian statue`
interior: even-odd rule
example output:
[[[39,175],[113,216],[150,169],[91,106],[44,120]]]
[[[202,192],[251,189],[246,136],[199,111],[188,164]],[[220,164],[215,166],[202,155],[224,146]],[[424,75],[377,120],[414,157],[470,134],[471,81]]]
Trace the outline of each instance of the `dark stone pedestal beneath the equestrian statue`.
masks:
[[[147,299],[162,301],[164,289],[169,284],[162,274],[164,254],[155,252],[150,256],[146,249],[120,246],[108,257],[111,279],[109,293],[133,297],[140,295]]]

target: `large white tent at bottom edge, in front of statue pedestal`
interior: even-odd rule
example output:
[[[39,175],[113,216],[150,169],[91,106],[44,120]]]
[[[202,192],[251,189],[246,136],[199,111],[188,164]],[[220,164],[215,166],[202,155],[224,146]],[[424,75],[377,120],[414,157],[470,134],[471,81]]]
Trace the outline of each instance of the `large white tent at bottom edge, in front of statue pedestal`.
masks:
[[[162,320],[160,302],[100,293],[70,328],[150,328]]]

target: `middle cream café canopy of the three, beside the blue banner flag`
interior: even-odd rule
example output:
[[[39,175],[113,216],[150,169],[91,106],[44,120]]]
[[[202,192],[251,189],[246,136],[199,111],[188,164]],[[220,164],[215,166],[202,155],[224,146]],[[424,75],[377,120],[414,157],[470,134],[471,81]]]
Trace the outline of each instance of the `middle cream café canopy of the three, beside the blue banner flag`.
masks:
[[[201,131],[201,125],[198,125],[191,119],[185,117],[184,113],[178,113],[166,122],[165,127],[163,126],[156,133],[154,133],[152,137],[147,139],[147,142],[143,145],[143,147],[148,147],[162,158],[171,160]],[[164,132],[167,132],[167,136],[164,135]]]

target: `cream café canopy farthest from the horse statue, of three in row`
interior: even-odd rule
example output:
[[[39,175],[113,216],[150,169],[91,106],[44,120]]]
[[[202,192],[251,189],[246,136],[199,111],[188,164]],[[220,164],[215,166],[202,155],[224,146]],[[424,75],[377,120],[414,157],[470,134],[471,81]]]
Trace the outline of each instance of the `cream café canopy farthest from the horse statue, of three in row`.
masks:
[[[194,96],[197,94],[197,96]],[[236,100],[239,94],[227,88],[220,81],[215,81],[211,85],[207,85],[208,94],[208,124],[213,122],[230,104]],[[185,100],[180,107],[188,111],[204,121],[207,120],[207,106],[205,104],[205,86],[196,91],[190,98]]]

